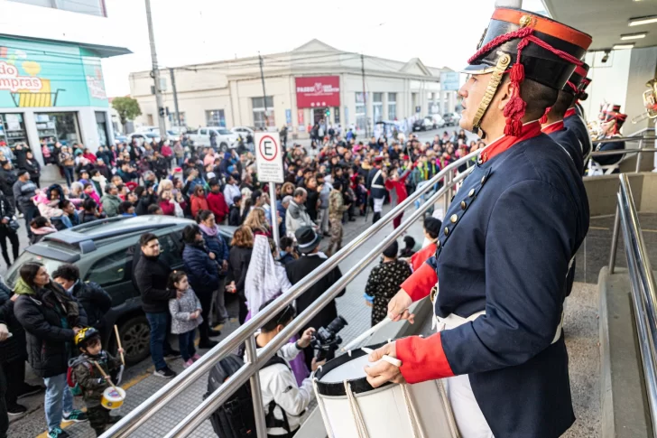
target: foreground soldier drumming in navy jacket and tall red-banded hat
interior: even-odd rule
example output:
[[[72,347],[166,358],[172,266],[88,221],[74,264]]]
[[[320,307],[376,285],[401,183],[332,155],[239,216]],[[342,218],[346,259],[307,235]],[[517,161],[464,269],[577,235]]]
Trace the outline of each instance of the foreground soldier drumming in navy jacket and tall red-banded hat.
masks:
[[[458,91],[459,123],[487,147],[446,213],[436,255],[388,306],[393,320],[411,319],[411,303],[431,295],[439,332],[375,350],[371,361],[387,354],[403,365],[381,360],[367,380],[443,379],[463,438],[555,438],[575,421],[561,322],[589,213],[580,175],[538,119],[591,37],[497,8],[482,43]]]

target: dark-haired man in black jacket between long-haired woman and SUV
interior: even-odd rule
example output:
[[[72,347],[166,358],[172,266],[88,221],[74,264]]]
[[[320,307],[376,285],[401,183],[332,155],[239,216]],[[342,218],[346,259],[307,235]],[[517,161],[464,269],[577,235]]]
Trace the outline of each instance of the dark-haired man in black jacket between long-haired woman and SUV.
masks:
[[[82,304],[87,312],[88,325],[100,331],[105,339],[105,314],[112,308],[112,298],[109,294],[97,283],[80,281],[78,266],[69,263],[55,269],[52,279]]]

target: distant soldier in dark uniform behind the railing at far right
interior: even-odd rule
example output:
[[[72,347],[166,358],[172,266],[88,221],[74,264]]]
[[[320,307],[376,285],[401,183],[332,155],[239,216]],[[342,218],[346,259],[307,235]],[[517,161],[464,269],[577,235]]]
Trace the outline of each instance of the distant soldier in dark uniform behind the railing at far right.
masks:
[[[599,116],[602,120],[600,128],[602,136],[597,140],[608,140],[613,138],[621,138],[620,130],[627,115],[620,112],[621,106],[614,105],[611,109],[603,110]],[[622,151],[625,149],[624,141],[615,141],[609,143],[598,143],[596,145],[596,152],[598,151]],[[601,175],[603,173],[618,173],[620,172],[617,164],[623,159],[623,154],[615,155],[602,155],[591,157],[589,163],[588,175]]]

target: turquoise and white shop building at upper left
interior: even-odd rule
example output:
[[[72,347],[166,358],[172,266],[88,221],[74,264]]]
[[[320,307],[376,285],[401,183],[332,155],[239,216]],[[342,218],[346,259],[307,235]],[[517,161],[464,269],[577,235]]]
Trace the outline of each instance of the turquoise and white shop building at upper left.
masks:
[[[130,51],[106,45],[104,35],[112,30],[103,0],[12,0],[1,12],[16,24],[0,30],[0,142],[29,145],[41,163],[43,145],[84,144],[95,151],[112,144],[100,60]],[[57,33],[51,23],[77,31]]]

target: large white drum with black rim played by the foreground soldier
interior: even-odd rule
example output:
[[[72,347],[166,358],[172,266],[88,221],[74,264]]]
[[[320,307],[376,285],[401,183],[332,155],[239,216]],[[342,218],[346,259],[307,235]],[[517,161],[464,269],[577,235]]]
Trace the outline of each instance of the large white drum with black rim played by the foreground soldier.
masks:
[[[374,364],[365,351],[354,349],[315,372],[313,386],[328,438],[458,437],[440,380],[374,388],[367,383],[366,365]]]

